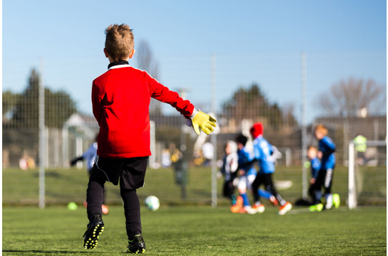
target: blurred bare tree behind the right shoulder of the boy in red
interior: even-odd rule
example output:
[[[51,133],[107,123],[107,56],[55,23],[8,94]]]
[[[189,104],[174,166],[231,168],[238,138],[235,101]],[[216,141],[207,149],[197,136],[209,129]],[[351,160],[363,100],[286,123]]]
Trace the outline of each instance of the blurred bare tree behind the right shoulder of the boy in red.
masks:
[[[152,50],[146,41],[140,41],[136,49],[136,55],[138,68],[147,71],[152,78],[158,80],[159,63],[154,59]],[[150,102],[150,114],[162,114],[161,103],[153,98]]]

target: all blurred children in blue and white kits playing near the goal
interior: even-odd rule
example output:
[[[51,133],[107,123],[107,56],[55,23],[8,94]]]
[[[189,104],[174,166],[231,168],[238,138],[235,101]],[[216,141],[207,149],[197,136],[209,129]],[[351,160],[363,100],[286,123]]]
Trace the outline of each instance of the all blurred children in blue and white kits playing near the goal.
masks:
[[[273,185],[273,173],[276,159],[281,157],[275,146],[263,138],[263,124],[253,124],[251,128],[253,137],[253,151],[248,151],[246,142],[248,138],[239,134],[236,142],[229,141],[225,146],[225,153],[221,174],[224,174],[224,196],[231,199],[232,213],[263,213],[265,210],[260,197],[267,198],[273,206],[278,206],[280,215],[292,208],[285,201]],[[335,144],[327,137],[327,129],[323,124],[318,124],[314,131],[319,141],[318,149],[310,146],[308,156],[311,161],[311,179],[309,194],[313,198],[310,211],[330,209],[340,206],[340,196],[332,194],[332,174],[335,168]],[[259,171],[254,166],[258,162]],[[265,190],[259,188],[264,185]],[[236,196],[236,187],[240,196]],[[325,207],[323,206],[322,188],[325,190]],[[249,203],[247,191],[253,194],[253,206]]]

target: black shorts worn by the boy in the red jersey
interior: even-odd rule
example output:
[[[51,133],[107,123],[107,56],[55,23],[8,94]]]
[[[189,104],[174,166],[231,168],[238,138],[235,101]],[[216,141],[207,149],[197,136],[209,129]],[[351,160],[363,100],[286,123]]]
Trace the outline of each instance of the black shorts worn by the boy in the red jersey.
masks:
[[[90,174],[112,182],[115,186],[118,185],[120,178],[120,188],[137,189],[144,186],[148,158],[148,156],[142,156],[108,159],[96,156]]]

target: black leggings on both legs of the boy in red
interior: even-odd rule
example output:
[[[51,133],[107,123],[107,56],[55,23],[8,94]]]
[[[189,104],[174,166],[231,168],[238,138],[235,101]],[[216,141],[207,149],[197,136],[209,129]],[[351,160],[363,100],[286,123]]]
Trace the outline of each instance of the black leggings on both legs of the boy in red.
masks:
[[[88,218],[95,213],[102,215],[101,206],[104,200],[105,179],[99,176],[90,175],[88,190],[86,191],[86,201],[88,202]],[[128,238],[142,233],[142,223],[140,221],[140,202],[137,198],[136,189],[120,188],[122,201],[124,201],[125,227]]]

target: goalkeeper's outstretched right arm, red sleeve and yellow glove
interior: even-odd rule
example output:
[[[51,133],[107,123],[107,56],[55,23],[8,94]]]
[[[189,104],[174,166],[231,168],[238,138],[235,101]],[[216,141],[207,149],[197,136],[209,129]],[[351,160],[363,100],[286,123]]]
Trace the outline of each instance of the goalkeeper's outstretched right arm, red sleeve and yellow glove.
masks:
[[[147,73],[146,75],[149,81],[151,97],[175,107],[175,109],[183,114],[184,117],[189,119],[186,124],[192,126],[196,134],[200,133],[199,129],[208,135],[214,131],[213,127],[216,127],[217,122],[214,117],[201,112],[201,110],[196,110],[189,100],[183,100],[182,97],[179,97],[177,92],[169,90],[169,88],[157,82],[157,80]]]

